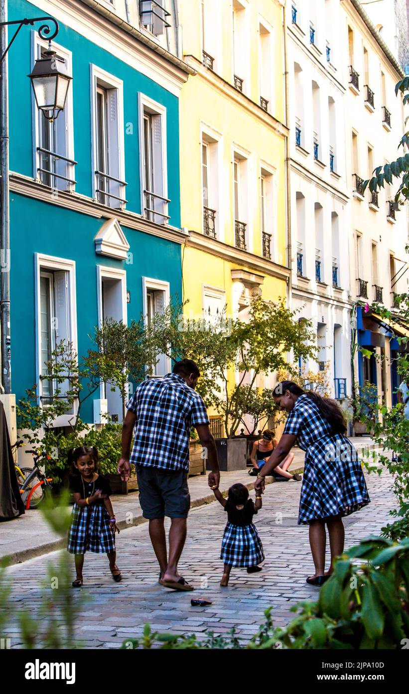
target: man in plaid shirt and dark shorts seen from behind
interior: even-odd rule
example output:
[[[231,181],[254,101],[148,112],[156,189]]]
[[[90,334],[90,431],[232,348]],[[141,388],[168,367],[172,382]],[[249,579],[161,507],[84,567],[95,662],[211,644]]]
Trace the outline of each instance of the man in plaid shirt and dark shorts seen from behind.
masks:
[[[127,403],[128,412],[122,426],[122,457],[118,463],[118,473],[124,482],[131,474],[130,463],[136,466],[140,507],[143,517],[149,520],[149,536],[161,568],[159,583],[179,591],[193,590],[177,569],[190,508],[188,471],[192,427],[207,451],[210,486],[219,484],[220,480],[206,407],[199,393],[194,391],[199,375],[192,359],[182,359],[174,364],[173,373],[138,385]],[[134,446],[129,459],[134,429]],[[171,518],[169,557],[165,516]]]

